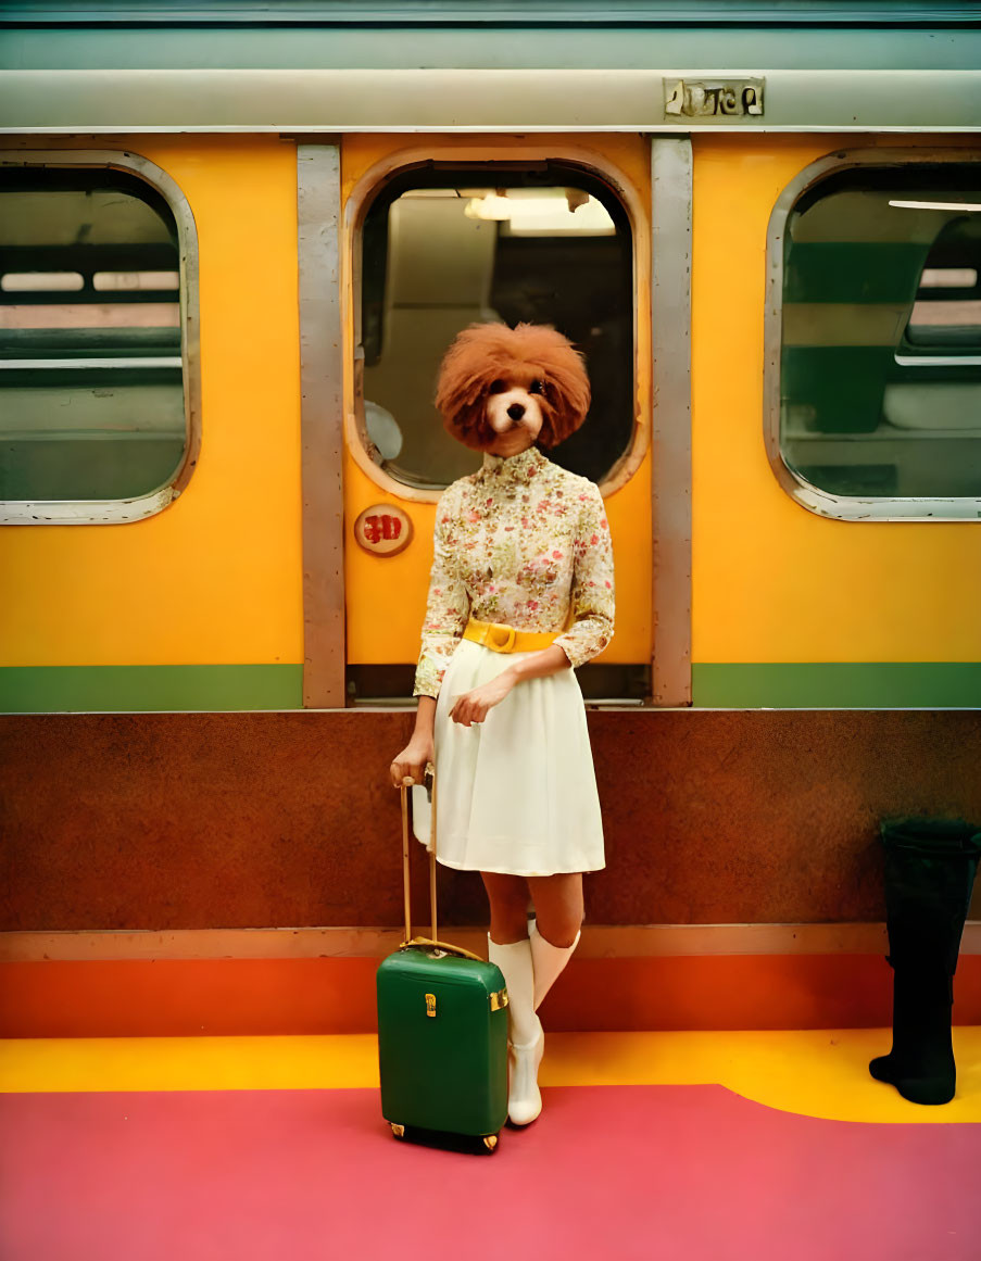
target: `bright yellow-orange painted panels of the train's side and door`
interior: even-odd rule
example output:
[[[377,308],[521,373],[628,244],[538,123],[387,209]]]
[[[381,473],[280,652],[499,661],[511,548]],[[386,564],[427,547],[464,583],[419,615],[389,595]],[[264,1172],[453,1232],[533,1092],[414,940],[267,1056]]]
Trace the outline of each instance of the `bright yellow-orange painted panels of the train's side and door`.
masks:
[[[648,212],[649,141],[642,137],[484,142],[518,159],[556,142],[586,164],[599,158],[622,173]],[[894,136],[860,141],[898,142]],[[100,137],[98,148],[111,144]],[[451,151],[459,140],[446,136],[440,144]],[[804,166],[857,144],[826,135],[712,135],[692,144],[696,672],[702,663],[976,663],[981,654],[981,588],[970,581],[981,566],[981,531],[961,522],[856,527],[802,512],[773,477],[760,436],[767,221]],[[30,141],[32,149],[39,145],[55,148],[47,137]],[[136,148],[131,137],[116,145]],[[937,139],[917,145],[928,155]],[[72,137],[71,148],[84,153],[86,146]],[[467,137],[467,148],[479,145]],[[416,149],[401,135],[345,137],[344,188],[371,164]],[[4,667],[300,667],[296,146],[267,136],[144,136],[139,151],[178,183],[198,230],[200,458],[179,501],[148,521],[4,531],[6,586],[15,593],[4,619]],[[649,222],[636,231],[646,233]],[[351,240],[343,245],[354,248]],[[639,347],[649,346],[646,298],[638,289]],[[642,430],[651,425],[649,361],[643,368]],[[649,652],[651,552],[638,530],[649,520],[649,462],[648,446],[638,472],[609,501],[620,608],[610,651],[622,661]],[[378,499],[397,502],[395,493],[380,494],[351,458],[344,473],[349,522]],[[352,662],[415,656],[432,507],[410,503],[407,511],[415,547],[388,561],[348,549]],[[280,695],[299,695],[295,678],[293,691]],[[105,704],[88,707],[116,706],[110,692]]]

